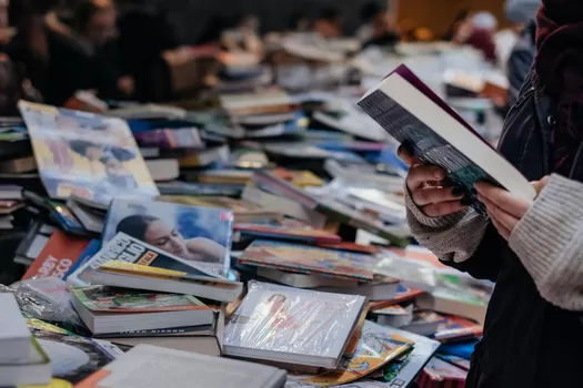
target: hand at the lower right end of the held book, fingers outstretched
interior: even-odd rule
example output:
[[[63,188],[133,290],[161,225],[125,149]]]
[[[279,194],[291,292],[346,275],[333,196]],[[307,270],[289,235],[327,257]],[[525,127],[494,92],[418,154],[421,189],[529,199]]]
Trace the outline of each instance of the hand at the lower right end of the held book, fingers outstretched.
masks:
[[[533,182],[532,185],[536,193],[546,185],[547,176],[540,181]],[[526,214],[533,201],[522,200],[503,188],[496,187],[489,183],[476,183],[478,198],[485,207],[492,224],[506,241],[521,218]]]

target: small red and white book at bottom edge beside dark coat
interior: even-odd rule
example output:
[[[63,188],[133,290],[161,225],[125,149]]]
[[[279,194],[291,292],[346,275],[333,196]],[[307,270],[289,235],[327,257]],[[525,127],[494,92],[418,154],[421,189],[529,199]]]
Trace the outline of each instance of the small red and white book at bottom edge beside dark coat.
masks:
[[[416,378],[420,388],[463,388],[468,371],[433,357]]]

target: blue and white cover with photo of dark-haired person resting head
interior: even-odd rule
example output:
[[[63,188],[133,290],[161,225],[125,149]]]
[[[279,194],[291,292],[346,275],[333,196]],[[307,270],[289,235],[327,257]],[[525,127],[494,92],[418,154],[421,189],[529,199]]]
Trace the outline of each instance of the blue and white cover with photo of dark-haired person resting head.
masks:
[[[230,211],[114,200],[103,227],[103,242],[120,232],[213,273],[229,272],[233,232]]]

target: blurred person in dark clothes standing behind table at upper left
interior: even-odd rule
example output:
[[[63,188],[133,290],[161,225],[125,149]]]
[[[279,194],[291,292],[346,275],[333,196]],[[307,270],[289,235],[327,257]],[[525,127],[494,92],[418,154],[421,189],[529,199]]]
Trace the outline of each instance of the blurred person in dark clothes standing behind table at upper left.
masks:
[[[115,23],[110,0],[80,0],[68,22],[49,14],[41,91],[48,103],[62,105],[79,90],[93,90],[101,99],[133,95],[134,80],[122,70]]]

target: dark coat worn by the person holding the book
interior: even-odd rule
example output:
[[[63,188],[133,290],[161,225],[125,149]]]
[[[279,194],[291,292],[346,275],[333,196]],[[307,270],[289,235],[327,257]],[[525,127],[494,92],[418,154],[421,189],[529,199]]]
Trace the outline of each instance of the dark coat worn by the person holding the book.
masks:
[[[504,124],[500,152],[527,180],[553,170],[554,104],[532,72]],[[583,143],[570,177],[583,182]],[[550,232],[552,233],[552,232]],[[507,243],[489,226],[474,256],[455,265],[496,283],[469,388],[583,387],[583,314],[544,300]],[[583,285],[583,279],[582,279]]]

